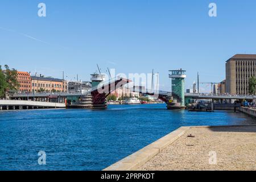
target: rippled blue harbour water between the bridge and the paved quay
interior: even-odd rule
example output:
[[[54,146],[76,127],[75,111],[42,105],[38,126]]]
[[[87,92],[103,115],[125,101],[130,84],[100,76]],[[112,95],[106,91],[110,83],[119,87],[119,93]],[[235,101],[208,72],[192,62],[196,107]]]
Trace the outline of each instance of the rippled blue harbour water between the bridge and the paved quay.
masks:
[[[171,111],[166,105],[108,110],[0,112],[0,170],[101,170],[180,126],[245,125],[241,113]],[[38,152],[47,164],[39,166]]]

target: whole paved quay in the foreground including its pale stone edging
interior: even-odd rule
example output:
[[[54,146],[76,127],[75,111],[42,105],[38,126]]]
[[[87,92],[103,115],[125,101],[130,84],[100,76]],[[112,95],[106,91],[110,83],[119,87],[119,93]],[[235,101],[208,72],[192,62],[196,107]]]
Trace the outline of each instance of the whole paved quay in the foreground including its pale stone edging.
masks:
[[[256,125],[181,127],[105,170],[256,170]]]

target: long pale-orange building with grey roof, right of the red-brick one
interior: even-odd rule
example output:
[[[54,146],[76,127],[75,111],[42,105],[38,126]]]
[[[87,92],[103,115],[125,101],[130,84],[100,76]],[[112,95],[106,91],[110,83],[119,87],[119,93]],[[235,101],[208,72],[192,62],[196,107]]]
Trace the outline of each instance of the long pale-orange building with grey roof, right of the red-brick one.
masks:
[[[67,81],[40,76],[31,76],[32,92],[67,92]]]

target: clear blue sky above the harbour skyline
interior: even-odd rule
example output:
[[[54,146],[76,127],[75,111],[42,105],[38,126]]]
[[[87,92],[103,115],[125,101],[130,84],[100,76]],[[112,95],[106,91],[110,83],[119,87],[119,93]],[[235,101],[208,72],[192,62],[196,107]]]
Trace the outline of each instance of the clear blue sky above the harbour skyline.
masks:
[[[217,17],[208,15],[210,2]],[[256,1],[1,0],[0,64],[59,78],[64,71],[68,80],[89,80],[96,64],[102,72],[154,68],[164,90],[170,69],[187,70],[187,88],[197,71],[201,81],[219,82],[229,57],[256,53],[255,9]]]

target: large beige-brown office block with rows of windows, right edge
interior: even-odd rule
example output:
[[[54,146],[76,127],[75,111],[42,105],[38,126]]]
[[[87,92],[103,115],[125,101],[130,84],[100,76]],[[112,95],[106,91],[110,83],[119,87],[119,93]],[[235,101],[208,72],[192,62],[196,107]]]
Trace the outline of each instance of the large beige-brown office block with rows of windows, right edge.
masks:
[[[225,92],[249,94],[249,79],[256,77],[256,55],[238,54],[226,61]]]

